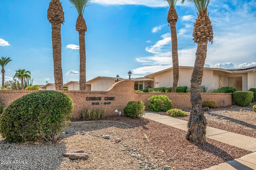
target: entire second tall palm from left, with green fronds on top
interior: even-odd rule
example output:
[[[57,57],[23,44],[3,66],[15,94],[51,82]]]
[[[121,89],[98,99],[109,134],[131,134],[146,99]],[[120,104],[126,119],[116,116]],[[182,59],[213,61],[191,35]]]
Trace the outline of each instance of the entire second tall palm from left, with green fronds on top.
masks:
[[[79,77],[79,89],[86,90],[86,51],[85,51],[85,32],[87,26],[83,17],[84,9],[89,0],[69,0],[74,5],[78,12],[78,18],[76,19],[76,31],[79,34],[79,52],[80,52],[80,77]]]

